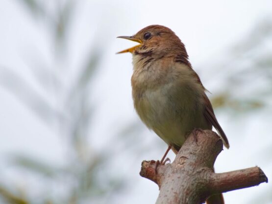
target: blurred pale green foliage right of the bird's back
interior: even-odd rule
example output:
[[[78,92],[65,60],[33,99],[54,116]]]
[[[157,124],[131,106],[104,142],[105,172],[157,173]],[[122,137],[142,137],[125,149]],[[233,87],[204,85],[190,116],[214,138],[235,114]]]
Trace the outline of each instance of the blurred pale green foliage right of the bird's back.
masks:
[[[218,66],[223,67],[226,86],[212,97],[214,108],[228,108],[235,113],[250,112],[268,108],[272,97],[272,21],[264,20],[257,24],[247,37],[233,45],[225,60]],[[215,69],[215,67],[213,67]],[[245,95],[235,95],[233,91],[251,90]]]

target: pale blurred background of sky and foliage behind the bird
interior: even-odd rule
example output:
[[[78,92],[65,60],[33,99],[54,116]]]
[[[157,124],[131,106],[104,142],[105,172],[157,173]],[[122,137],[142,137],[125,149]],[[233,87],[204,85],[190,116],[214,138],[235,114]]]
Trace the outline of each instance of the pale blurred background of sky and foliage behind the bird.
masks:
[[[133,109],[131,55],[115,55],[134,45],[116,36],[152,24],[181,38],[212,93],[230,142],[216,171],[271,180],[271,0],[1,0],[1,204],[155,203],[141,162],[167,146]],[[272,184],[224,198],[272,204]]]

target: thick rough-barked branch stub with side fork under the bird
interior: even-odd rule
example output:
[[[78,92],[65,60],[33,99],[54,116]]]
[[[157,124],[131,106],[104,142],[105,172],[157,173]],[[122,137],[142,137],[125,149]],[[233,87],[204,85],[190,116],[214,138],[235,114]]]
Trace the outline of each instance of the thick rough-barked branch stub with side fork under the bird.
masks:
[[[157,166],[154,160],[142,162],[140,175],[159,186],[156,204],[201,204],[214,194],[268,182],[258,167],[214,173],[214,162],[223,150],[222,140],[210,130],[197,132],[197,136],[188,137],[173,163]]]

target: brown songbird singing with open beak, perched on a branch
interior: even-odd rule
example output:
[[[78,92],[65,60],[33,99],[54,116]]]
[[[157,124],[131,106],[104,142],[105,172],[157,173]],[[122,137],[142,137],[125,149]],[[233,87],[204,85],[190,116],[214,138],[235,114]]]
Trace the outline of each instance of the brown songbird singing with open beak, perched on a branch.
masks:
[[[195,130],[218,131],[228,140],[217,121],[198,74],[189,62],[184,44],[164,26],[152,25],[132,36],[119,36],[140,43],[119,53],[132,53],[131,78],[134,107],[141,120],[177,153]],[[223,197],[220,202],[223,204]]]

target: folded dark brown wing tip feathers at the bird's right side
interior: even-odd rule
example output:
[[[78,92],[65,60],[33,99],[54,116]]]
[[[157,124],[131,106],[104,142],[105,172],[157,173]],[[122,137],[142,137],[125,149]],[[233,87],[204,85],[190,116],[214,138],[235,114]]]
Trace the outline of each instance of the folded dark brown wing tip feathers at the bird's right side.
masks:
[[[224,146],[229,148],[227,137],[214,115],[212,104],[210,100],[208,99],[208,97],[206,96],[206,94],[204,94],[204,100],[205,100],[204,117],[206,117],[206,119],[210,121],[212,125],[215,127],[215,129],[218,131],[219,135],[221,136],[223,140]]]

